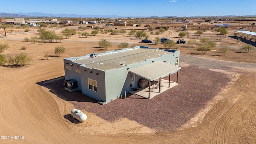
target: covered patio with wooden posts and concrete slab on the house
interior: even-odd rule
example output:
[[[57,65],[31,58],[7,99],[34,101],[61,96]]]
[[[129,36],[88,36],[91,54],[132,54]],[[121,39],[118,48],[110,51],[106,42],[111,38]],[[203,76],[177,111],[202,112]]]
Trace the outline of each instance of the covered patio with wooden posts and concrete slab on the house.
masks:
[[[181,68],[179,66],[159,61],[130,70],[131,73],[148,81],[148,85],[146,87],[133,89],[130,93],[151,99],[161,92],[164,92],[178,84],[178,73],[180,69]],[[171,74],[174,73],[177,73],[176,82],[171,81]],[[163,80],[162,78],[166,76],[169,76],[169,79]]]

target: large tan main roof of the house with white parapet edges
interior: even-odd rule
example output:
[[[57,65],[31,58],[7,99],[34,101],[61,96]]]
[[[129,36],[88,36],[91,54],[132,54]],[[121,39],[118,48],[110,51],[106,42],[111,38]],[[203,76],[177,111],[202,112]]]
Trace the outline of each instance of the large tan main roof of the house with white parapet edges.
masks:
[[[90,55],[86,55],[78,58],[72,57],[65,59],[72,60],[73,62],[88,68],[96,68],[104,71],[121,68],[125,65],[142,62],[151,58],[157,58],[165,54],[171,54],[175,51],[176,50],[161,50],[138,46],[135,48],[125,48],[122,50],[101,53],[94,58],[91,58]]]

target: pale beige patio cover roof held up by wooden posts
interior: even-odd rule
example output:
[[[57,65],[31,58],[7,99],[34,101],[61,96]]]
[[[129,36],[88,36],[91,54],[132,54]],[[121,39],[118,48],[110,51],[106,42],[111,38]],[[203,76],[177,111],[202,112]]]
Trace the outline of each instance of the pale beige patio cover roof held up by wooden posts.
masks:
[[[130,70],[130,72],[147,80],[153,81],[158,78],[162,78],[167,74],[177,72],[180,69],[181,67],[158,61],[139,68],[134,68],[133,70]]]

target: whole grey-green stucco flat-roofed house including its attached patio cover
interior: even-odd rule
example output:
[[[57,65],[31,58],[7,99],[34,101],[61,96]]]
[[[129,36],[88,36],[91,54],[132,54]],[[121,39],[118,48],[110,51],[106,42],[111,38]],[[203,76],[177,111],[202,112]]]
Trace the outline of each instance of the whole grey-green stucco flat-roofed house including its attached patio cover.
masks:
[[[166,88],[178,83],[180,51],[162,50],[145,46],[113,50],[101,54],[87,54],[81,57],[64,58],[64,87],[72,92],[81,90],[83,94],[106,104],[126,95],[147,89],[148,96],[154,91],[159,94],[166,80]],[[177,73],[177,82],[170,82],[171,74]]]

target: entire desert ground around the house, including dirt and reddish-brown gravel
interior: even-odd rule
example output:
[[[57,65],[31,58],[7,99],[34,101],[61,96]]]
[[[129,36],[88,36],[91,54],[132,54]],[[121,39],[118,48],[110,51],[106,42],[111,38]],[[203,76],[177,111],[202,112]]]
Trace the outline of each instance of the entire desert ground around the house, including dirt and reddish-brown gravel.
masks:
[[[61,35],[63,29],[51,30]],[[197,51],[198,46],[176,44],[182,67],[178,86],[151,100],[128,94],[125,100],[116,99],[103,106],[80,91],[64,90],[63,58],[118,50],[121,42],[166,49],[163,44],[142,43],[142,39],[128,34],[102,32],[87,38],[75,34],[58,43],[24,41],[25,37],[39,37],[38,32],[1,37],[0,43],[9,45],[1,53],[6,58],[22,52],[32,56],[33,61],[23,67],[8,63],[0,66],[0,143],[256,143],[256,49],[248,53],[240,50],[247,44],[238,43],[231,37],[234,30],[227,30],[225,39],[210,40],[216,47],[206,54]],[[181,38],[180,31],[174,28],[159,35],[150,34],[148,29],[145,32],[150,40]],[[3,29],[0,33],[4,33]],[[112,47],[100,48],[98,41],[102,39],[108,40]],[[200,39],[196,41],[200,44]],[[58,45],[66,48],[60,57],[54,54]],[[221,46],[230,47],[225,56],[218,52]],[[48,59],[44,57],[46,53]],[[87,115],[85,122],[72,118],[70,112],[74,108]]]

